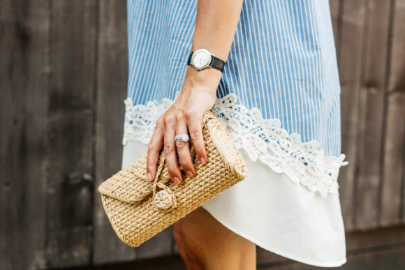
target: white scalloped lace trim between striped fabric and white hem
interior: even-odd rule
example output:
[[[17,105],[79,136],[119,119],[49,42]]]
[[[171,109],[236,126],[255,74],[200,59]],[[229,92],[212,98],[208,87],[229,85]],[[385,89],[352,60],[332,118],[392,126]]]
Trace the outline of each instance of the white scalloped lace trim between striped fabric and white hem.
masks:
[[[176,98],[178,94],[179,91]],[[316,140],[301,142],[300,135],[288,135],[281,128],[279,119],[263,119],[257,107],[249,111],[243,105],[237,105],[236,100],[234,93],[228,93],[216,99],[211,111],[224,124],[237,149],[243,148],[251,160],[259,159],[274,172],[285,173],[291,181],[307,186],[314,193],[318,192],[323,197],[328,193],[339,196],[339,169],[348,164],[344,161],[344,154],[339,157],[323,156]],[[131,98],[126,98],[122,144],[128,140],[149,144],[156,120],[173,102],[163,98],[161,103],[153,100],[147,105],[133,105]]]

